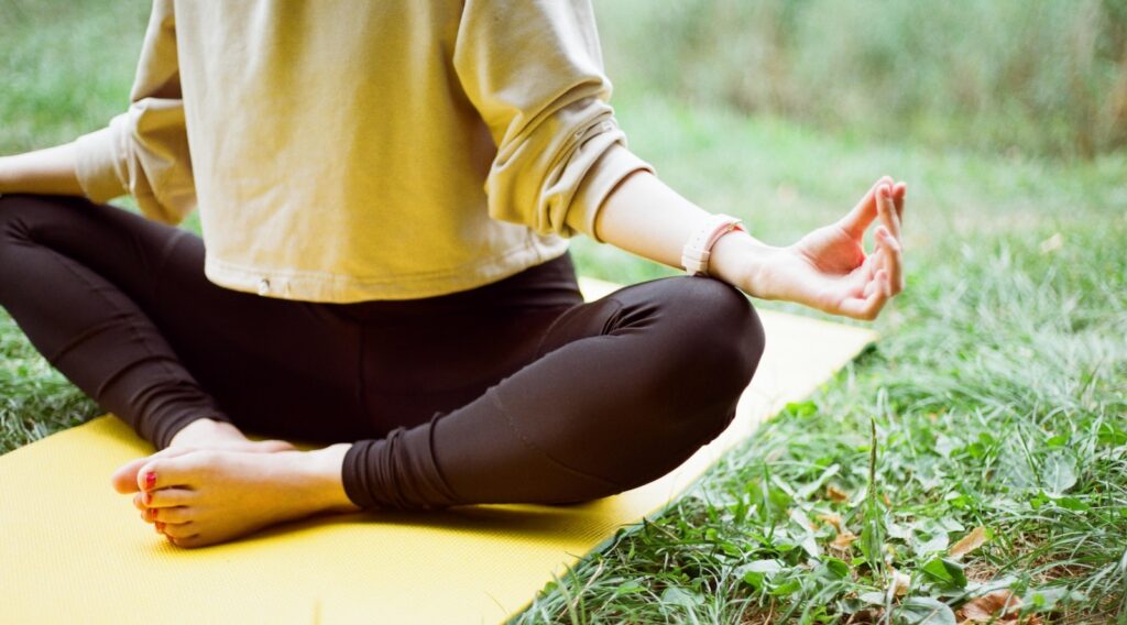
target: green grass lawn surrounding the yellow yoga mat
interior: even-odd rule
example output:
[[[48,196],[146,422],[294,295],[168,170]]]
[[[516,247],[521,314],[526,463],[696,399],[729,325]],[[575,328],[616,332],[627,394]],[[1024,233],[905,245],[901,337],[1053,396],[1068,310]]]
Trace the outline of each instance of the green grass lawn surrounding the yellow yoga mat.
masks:
[[[19,86],[0,89],[5,153],[122,108],[143,28],[137,7],[115,9],[119,27],[20,5],[35,10],[18,29],[0,10],[0,66]],[[932,610],[929,623],[951,623],[995,587],[1023,599],[1027,622],[1127,620],[1127,154],[937,151],[619,82],[633,83],[615,96],[631,148],[769,242],[836,218],[882,173],[907,180],[908,288],[873,349],[516,620],[917,623]],[[574,250],[587,275],[672,274],[582,239]],[[7,316],[0,354],[0,450],[98,412]],[[826,515],[858,536],[848,548],[832,548]],[[976,527],[988,542],[947,557]],[[911,583],[888,600],[894,571]]]

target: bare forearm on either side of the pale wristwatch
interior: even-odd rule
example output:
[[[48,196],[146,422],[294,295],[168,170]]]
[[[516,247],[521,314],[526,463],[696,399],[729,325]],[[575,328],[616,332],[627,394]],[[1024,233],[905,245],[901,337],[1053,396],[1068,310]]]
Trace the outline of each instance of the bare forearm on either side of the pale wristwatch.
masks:
[[[595,232],[616,248],[682,268],[681,251],[708,215],[653,173],[637,171],[603,202]],[[709,275],[745,291],[747,285],[754,288],[774,252],[775,248],[743,233],[721,236],[712,248]]]

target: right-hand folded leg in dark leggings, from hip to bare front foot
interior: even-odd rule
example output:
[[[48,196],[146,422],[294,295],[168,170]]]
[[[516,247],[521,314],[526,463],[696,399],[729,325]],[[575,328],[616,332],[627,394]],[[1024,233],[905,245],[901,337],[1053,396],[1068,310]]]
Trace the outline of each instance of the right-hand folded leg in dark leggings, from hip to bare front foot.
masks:
[[[153,458],[140,468],[156,474],[150,503],[186,521],[165,533],[198,547],[319,510],[575,502],[675,467],[733,418],[762,351],[754,311],[701,278],[578,305],[574,271],[553,274],[570,271],[561,260],[451,296],[349,309],[369,416],[401,427],[310,454],[313,465],[299,453]],[[507,292],[525,275],[531,285]],[[165,488],[185,476],[190,491]]]

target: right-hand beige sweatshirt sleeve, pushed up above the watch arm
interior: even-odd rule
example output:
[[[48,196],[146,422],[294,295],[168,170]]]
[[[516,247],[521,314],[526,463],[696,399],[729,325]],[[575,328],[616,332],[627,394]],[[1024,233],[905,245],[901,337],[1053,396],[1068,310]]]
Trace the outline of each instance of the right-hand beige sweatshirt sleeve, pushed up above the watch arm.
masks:
[[[603,199],[653,168],[613,117],[591,3],[469,0],[454,69],[497,145],[485,184],[490,216],[600,240]]]

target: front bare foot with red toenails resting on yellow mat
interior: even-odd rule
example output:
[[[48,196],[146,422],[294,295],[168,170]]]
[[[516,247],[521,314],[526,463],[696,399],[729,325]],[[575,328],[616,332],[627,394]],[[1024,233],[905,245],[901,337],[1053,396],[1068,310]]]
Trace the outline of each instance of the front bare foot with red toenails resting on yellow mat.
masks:
[[[135,493],[141,518],[172,544],[199,547],[317,512],[360,510],[340,482],[348,447],[273,454],[170,447],[136,470],[119,468],[114,486]]]

